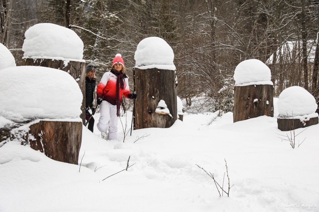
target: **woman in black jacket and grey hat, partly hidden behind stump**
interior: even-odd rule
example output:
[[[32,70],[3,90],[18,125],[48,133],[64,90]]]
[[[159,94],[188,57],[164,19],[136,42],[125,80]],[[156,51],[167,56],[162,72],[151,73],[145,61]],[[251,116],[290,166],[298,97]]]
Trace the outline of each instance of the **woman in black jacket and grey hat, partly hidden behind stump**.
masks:
[[[86,66],[86,77],[85,77],[85,119],[89,120],[91,117],[91,111],[94,110],[93,107],[93,93],[95,90],[95,70],[96,66],[92,63],[89,63]],[[91,117],[89,121],[89,126],[87,127],[93,133],[93,126],[94,126],[94,118]]]

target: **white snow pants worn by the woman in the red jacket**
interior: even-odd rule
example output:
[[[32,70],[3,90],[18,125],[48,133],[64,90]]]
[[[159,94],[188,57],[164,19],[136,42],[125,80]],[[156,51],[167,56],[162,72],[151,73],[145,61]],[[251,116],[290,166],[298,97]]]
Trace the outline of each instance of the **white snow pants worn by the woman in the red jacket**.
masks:
[[[107,133],[108,140],[116,140],[117,138],[117,116],[116,105],[110,104],[108,101],[103,100],[100,104],[100,119],[97,127],[100,132]]]

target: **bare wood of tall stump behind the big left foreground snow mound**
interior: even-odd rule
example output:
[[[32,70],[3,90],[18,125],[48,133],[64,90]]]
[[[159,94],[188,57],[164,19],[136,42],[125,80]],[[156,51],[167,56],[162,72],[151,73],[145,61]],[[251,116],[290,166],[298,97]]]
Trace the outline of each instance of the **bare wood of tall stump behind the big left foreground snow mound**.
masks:
[[[64,66],[63,60],[52,60],[52,59],[22,59],[22,65],[34,65],[43,66],[49,68],[56,68],[68,72],[79,84],[79,87],[83,94],[82,100],[82,114],[81,119],[85,123],[85,63],[70,61],[67,66]],[[67,95],[67,93],[66,93]]]

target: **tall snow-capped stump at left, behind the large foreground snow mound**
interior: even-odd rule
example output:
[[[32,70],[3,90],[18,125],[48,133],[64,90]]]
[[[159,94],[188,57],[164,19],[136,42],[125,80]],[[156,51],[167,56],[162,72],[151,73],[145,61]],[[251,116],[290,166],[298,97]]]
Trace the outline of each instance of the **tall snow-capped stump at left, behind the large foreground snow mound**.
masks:
[[[85,60],[82,59],[82,40],[74,31],[49,23],[35,24],[25,32],[25,37],[22,65],[43,66],[68,72],[78,82],[82,91],[81,119],[85,123]]]

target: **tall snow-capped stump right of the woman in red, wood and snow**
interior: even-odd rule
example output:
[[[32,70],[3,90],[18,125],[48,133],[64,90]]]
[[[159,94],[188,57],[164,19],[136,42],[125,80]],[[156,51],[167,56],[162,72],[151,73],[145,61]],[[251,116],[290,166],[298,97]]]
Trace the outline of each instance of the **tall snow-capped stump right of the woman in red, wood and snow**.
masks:
[[[145,38],[137,45],[134,58],[134,129],[171,127],[177,119],[172,48],[162,38]]]

